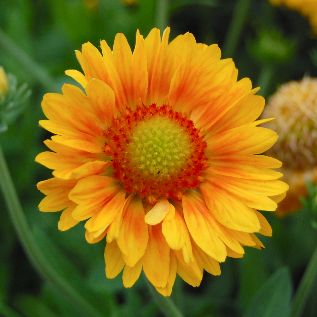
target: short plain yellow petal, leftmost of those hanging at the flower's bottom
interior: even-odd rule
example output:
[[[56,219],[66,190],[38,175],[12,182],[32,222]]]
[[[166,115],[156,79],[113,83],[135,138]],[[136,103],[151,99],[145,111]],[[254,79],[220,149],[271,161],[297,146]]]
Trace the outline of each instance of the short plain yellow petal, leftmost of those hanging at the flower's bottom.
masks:
[[[115,240],[106,244],[105,262],[107,278],[115,278],[124,268],[125,262]]]

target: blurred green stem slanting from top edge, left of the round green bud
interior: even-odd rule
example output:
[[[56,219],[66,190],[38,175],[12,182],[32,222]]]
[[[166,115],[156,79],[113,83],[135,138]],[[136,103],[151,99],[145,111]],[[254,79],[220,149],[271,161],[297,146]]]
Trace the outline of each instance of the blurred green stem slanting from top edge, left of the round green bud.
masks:
[[[232,57],[239,42],[252,0],[237,0],[235,10],[223,44],[223,58]]]

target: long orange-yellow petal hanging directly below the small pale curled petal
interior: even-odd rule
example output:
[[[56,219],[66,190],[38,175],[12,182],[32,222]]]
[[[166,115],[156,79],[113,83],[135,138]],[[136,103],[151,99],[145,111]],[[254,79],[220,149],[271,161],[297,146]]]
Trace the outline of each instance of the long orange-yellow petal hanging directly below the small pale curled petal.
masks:
[[[148,226],[149,241],[142,258],[147,279],[156,287],[165,287],[170,266],[170,248],[162,234],[161,224]]]

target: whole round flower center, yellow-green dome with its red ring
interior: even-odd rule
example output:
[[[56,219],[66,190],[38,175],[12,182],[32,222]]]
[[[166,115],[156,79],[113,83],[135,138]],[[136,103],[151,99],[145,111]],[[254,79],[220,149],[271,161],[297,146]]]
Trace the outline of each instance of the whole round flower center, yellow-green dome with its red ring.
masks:
[[[113,177],[152,205],[160,197],[180,201],[204,179],[206,142],[191,120],[168,106],[127,110],[113,119],[106,138]]]

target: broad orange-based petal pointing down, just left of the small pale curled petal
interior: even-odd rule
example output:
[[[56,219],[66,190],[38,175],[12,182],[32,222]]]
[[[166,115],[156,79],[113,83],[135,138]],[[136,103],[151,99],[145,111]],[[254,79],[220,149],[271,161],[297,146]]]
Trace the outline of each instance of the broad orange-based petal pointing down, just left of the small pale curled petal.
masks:
[[[144,255],[148,239],[142,200],[139,196],[135,196],[123,215],[117,239],[123,259],[128,266],[133,267]]]

